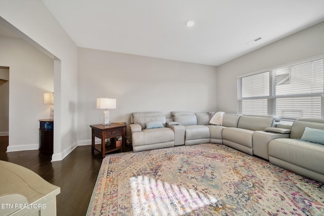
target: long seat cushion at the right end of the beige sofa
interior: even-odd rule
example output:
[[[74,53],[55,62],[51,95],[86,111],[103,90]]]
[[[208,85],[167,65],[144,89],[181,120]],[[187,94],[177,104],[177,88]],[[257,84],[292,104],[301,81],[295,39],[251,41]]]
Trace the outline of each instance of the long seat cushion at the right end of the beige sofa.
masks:
[[[306,141],[278,138],[269,142],[269,157],[324,174],[324,146]],[[271,161],[270,161],[271,162]]]

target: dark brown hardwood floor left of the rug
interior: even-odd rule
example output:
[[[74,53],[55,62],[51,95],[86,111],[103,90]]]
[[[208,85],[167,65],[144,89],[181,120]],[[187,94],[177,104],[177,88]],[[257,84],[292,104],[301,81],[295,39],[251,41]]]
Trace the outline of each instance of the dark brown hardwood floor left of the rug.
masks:
[[[24,166],[61,188],[56,198],[57,215],[86,215],[102,162],[99,152],[91,153],[91,145],[78,146],[55,162],[38,150],[6,153],[7,147],[8,136],[0,136],[0,160]],[[127,151],[132,151],[131,146]]]

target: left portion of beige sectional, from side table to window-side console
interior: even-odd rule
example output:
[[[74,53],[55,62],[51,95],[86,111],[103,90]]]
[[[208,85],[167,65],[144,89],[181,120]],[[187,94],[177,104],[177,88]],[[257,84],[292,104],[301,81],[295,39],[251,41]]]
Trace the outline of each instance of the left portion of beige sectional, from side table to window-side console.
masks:
[[[167,119],[161,112],[133,113],[130,125],[133,151],[218,143],[252,155],[253,133],[273,127],[279,121],[270,115],[224,114],[222,125],[211,125],[207,112],[173,111],[171,116]],[[147,123],[155,121],[160,121],[163,127],[146,128]]]

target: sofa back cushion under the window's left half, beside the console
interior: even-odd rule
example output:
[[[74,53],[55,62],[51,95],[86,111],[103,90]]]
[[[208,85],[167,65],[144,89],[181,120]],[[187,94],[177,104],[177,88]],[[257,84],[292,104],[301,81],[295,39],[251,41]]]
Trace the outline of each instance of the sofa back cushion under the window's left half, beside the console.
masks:
[[[266,127],[273,127],[280,118],[273,115],[242,115],[238,119],[237,127],[251,131],[264,131]]]

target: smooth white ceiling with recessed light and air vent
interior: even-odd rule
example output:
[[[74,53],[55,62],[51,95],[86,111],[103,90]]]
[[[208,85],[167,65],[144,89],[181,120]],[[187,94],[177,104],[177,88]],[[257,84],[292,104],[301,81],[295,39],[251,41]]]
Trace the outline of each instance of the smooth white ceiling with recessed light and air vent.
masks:
[[[77,47],[215,66],[324,21],[322,0],[42,1]]]

